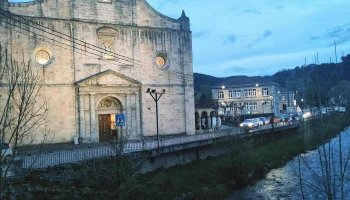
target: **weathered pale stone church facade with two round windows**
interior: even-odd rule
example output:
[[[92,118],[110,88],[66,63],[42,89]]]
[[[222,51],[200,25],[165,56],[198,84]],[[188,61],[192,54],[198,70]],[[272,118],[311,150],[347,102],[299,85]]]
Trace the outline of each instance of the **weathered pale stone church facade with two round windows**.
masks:
[[[195,134],[192,35],[184,12],[146,0],[1,1],[0,42],[40,74],[54,143]],[[154,93],[155,94],[155,93]],[[158,95],[159,96],[159,95]],[[125,126],[116,128],[115,116]],[[36,142],[41,138],[37,137]]]

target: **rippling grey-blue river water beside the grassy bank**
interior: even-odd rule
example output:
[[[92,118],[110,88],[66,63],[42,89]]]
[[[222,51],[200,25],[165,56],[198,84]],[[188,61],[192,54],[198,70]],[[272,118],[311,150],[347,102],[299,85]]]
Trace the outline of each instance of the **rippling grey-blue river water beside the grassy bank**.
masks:
[[[343,150],[343,163],[346,161],[346,157],[350,156],[350,128],[342,131],[342,150]],[[332,167],[331,171],[334,171],[333,176],[335,184],[332,189],[336,191],[334,199],[340,199],[340,187],[339,187],[339,137],[332,139],[326,144],[326,147],[330,147],[332,154]],[[328,151],[327,151],[328,152]],[[328,154],[327,154],[328,155]],[[300,160],[300,162],[298,162]],[[303,161],[304,160],[304,161]],[[303,193],[304,199],[327,199],[325,189],[322,182],[322,170],[320,156],[317,150],[302,154],[299,159],[295,157],[289,161],[284,167],[271,170],[266,178],[259,181],[254,186],[246,187],[243,190],[235,191],[230,197],[225,200],[300,200],[303,199],[302,190],[300,187],[299,179],[299,163],[301,177],[303,181]],[[323,162],[324,163],[324,162]],[[350,199],[350,163],[348,169],[345,172],[345,189],[344,199]]]

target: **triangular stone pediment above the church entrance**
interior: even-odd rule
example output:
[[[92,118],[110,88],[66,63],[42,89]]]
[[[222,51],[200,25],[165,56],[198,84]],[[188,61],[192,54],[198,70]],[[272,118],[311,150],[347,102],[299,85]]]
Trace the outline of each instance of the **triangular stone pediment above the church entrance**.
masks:
[[[80,81],[75,82],[78,86],[140,86],[141,83],[113,70],[106,70]]]

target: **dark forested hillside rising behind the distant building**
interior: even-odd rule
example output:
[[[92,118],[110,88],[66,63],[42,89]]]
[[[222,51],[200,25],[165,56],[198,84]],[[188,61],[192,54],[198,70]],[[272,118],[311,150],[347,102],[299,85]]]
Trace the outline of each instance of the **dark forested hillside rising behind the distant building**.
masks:
[[[211,99],[211,87],[217,84],[239,82],[247,76],[217,78],[210,75],[194,73],[194,88],[207,99]],[[297,66],[294,69],[281,70],[272,76],[249,77],[252,80],[275,81],[298,95],[297,99],[308,102],[310,106],[329,104],[335,97],[340,101],[350,93],[350,54],[341,58],[339,63]],[[311,102],[311,99],[312,102]],[[316,99],[316,100],[315,100]],[[338,100],[339,100],[338,99]]]

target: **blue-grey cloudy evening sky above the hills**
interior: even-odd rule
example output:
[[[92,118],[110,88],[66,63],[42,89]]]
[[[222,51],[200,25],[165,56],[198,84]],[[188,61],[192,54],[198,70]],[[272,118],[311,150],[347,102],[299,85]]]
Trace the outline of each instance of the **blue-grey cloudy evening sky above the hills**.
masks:
[[[10,0],[11,1],[11,0]],[[12,0],[14,1],[14,0]],[[20,0],[19,0],[20,1]],[[350,54],[349,0],[147,0],[160,13],[190,18],[194,72],[272,75],[338,62]]]

